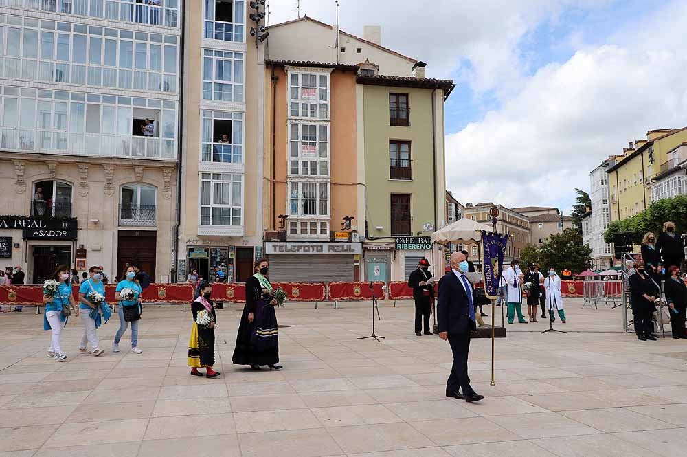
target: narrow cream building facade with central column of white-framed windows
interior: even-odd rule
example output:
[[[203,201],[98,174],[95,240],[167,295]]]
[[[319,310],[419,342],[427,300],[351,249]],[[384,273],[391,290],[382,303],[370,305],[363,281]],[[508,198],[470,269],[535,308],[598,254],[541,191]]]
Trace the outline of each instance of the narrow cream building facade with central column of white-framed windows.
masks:
[[[177,280],[243,282],[262,256],[264,45],[243,0],[185,3]],[[254,23],[253,23],[254,25]]]

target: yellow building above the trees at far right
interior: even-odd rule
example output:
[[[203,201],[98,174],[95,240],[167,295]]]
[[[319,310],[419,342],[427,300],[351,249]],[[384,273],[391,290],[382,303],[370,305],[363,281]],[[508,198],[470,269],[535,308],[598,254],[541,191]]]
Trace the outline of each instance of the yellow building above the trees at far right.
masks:
[[[607,170],[610,186],[611,221],[620,221],[646,210],[651,203],[653,178],[669,162],[668,153],[687,141],[687,127],[646,133],[623,148],[616,164]]]

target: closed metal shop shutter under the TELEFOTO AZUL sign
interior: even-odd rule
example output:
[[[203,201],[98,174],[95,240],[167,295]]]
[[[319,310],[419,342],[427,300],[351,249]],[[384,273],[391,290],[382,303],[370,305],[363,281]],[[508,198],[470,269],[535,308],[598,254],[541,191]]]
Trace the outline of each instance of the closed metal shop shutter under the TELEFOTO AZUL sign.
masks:
[[[353,280],[353,256],[271,254],[269,280],[273,282],[335,282]]]

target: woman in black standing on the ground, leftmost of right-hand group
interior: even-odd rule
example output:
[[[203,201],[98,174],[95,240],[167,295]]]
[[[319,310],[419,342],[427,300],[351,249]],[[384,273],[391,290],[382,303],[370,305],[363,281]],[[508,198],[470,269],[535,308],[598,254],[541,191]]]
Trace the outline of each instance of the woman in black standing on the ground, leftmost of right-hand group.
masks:
[[[635,261],[635,274],[630,276],[630,305],[632,306],[632,315],[634,316],[635,333],[637,339],[640,341],[656,341],[656,338],[651,335],[653,332],[652,316],[656,311],[654,302],[659,296],[659,289],[651,276],[646,274],[646,265],[644,261]]]

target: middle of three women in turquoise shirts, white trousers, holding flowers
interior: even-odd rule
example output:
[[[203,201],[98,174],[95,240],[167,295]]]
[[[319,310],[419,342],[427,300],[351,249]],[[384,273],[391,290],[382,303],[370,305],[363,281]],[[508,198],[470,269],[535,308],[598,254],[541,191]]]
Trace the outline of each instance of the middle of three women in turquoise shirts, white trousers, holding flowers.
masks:
[[[91,354],[94,357],[99,357],[105,350],[100,348],[98,333],[96,332],[100,327],[100,323],[103,321],[107,322],[112,313],[107,302],[92,303],[89,299],[89,295],[93,292],[100,293],[103,297],[105,296],[105,285],[102,283],[100,267],[91,267],[89,274],[91,277],[85,280],[79,287],[80,317],[81,322],[84,324],[84,333],[79,344],[79,352],[82,354],[87,353],[86,345],[90,344]]]

